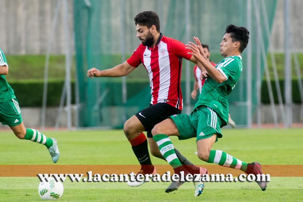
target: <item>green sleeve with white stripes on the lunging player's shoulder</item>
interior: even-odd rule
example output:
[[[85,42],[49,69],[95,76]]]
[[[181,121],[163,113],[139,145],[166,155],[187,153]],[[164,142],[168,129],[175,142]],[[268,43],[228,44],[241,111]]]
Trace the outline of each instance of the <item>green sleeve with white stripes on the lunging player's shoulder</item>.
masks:
[[[225,77],[225,81],[233,80],[240,71],[238,61],[235,58],[226,58],[217,69]]]

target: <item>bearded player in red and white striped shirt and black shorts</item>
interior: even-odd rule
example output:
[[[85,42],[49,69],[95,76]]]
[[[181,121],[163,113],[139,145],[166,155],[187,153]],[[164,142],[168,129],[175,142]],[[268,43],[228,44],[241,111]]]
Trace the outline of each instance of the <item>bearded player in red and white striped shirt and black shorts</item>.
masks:
[[[141,12],[135,16],[137,37],[142,42],[132,56],[121,65],[107,70],[92,68],[87,76],[93,77],[121,77],[128,75],[141,63],[148,72],[151,87],[150,106],[129,118],[123,127],[128,141],[132,145],[141,170],[138,174],[155,174],[148,153],[147,139],[142,133],[147,131],[151,154],[164,159],[151,135],[151,129],[173,114],[181,114],[183,101],[180,88],[182,58],[197,63],[196,59],[188,55],[186,46],[160,33],[160,20],[152,11]],[[201,64],[198,64],[201,66]],[[178,150],[174,150],[178,161],[185,165],[191,174],[205,174],[205,168],[196,167],[185,159]],[[170,159],[166,160],[170,162]],[[128,181],[129,186],[140,186],[144,183]]]

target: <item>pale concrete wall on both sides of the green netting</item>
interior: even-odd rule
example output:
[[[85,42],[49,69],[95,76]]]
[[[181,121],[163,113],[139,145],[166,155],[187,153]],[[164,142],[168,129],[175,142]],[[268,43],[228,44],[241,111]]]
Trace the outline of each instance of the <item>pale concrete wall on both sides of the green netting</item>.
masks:
[[[58,1],[55,0],[0,0],[0,46],[5,54],[45,54],[51,33],[52,20]],[[69,29],[73,36],[73,0],[68,0]],[[116,5],[113,5],[116,6]],[[267,8],[268,10],[270,8]],[[291,25],[298,51],[303,52],[303,1],[291,1]],[[58,16],[53,54],[64,54],[64,10]],[[284,48],[283,0],[278,0],[276,16],[272,28],[275,52]],[[74,41],[72,46],[74,46]]]

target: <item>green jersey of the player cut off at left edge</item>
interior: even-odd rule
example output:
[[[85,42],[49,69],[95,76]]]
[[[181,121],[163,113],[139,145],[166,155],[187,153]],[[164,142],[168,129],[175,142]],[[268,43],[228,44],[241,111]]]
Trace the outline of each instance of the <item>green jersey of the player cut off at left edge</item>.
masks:
[[[6,65],[8,67],[5,55],[0,49],[0,66]],[[5,76],[0,75],[0,102],[8,101],[14,99],[15,94],[10,85],[8,85]]]

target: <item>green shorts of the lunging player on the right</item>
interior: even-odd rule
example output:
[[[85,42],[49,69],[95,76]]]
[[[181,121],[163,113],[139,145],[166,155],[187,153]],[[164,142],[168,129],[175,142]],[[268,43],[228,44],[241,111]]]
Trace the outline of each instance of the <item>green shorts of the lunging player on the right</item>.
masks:
[[[175,114],[170,117],[177,125],[179,140],[197,137],[197,141],[217,134],[216,141],[222,137],[221,118],[211,108],[202,106],[191,114]]]

